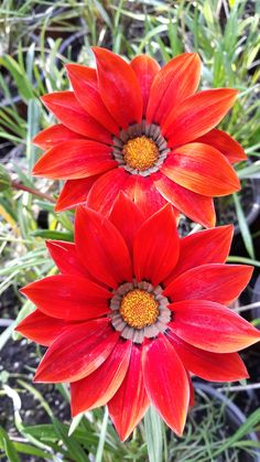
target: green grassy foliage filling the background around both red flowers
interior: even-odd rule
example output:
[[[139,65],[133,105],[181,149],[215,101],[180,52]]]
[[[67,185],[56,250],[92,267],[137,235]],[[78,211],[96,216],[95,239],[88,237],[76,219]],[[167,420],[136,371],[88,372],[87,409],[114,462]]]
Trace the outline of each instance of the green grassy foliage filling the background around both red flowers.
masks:
[[[68,88],[64,64],[77,60],[91,64],[91,45],[107,46],[126,58],[150,53],[161,63],[184,51],[196,51],[204,63],[202,87],[232,86],[240,92],[234,110],[223,122],[241,142],[253,161],[238,164],[241,180],[260,179],[260,37],[259,2],[225,1],[221,14],[217,0],[197,1],[76,1],[76,0],[3,0],[0,6],[0,138],[3,165],[0,168],[0,296],[12,287],[18,297],[19,321],[33,307],[24,301],[19,288],[30,281],[53,275],[44,240],[73,240],[72,212],[57,214],[53,203],[26,191],[10,189],[17,181],[28,189],[56,197],[61,184],[30,175],[41,151],[31,143],[39,129],[53,122],[40,97],[48,92]],[[248,3],[254,7],[250,12]],[[221,21],[220,21],[221,18]],[[78,37],[78,42],[69,40]],[[257,160],[257,161],[256,161]],[[252,264],[256,259],[253,237],[247,225],[240,195],[234,196],[237,217],[249,258],[232,256],[229,261]],[[46,215],[40,227],[39,212]],[[13,333],[15,320],[0,334],[0,352]],[[6,374],[4,374],[6,373]],[[31,373],[31,370],[30,370]],[[219,438],[224,410],[207,401],[196,409],[206,412],[202,425],[191,413],[185,437],[177,439],[166,431],[154,409],[144,423],[122,444],[108,419],[107,411],[95,410],[71,422],[59,421],[31,377],[3,370],[0,374],[0,400],[13,402],[14,434],[0,428],[0,458],[17,462],[30,460],[136,462],[237,461],[238,450],[253,451],[258,442],[249,441],[249,431],[259,428],[259,411],[253,412],[232,436]],[[56,387],[64,401],[66,387]],[[47,423],[26,425],[22,418],[22,398],[30,395],[44,409]],[[219,459],[220,460],[220,459]]]

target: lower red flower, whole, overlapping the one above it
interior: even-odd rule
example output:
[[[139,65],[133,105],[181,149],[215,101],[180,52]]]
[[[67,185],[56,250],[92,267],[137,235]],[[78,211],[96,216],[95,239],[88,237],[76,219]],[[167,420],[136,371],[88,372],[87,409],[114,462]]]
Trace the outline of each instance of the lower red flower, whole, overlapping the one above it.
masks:
[[[73,416],[108,404],[122,440],[150,402],[181,434],[189,373],[245,378],[236,352],[260,339],[226,307],[252,272],[225,265],[231,235],[223,226],[180,239],[170,204],[144,219],[122,194],[109,219],[79,207],[75,244],[47,243],[61,275],[22,289],[36,311],[18,331],[48,346],[35,380],[71,383]]]

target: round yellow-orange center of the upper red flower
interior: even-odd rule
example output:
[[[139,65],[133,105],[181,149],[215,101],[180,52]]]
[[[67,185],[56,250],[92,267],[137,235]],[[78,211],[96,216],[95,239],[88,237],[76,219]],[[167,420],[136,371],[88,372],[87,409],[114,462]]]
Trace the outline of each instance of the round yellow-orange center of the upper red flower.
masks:
[[[122,153],[124,162],[137,170],[150,169],[159,158],[155,142],[145,136],[128,140],[123,146]]]

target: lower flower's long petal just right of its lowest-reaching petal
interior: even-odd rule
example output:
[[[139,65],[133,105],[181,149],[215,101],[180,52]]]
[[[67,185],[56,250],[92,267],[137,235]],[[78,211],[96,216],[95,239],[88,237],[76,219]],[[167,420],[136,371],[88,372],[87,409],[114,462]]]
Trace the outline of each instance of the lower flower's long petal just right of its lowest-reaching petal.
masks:
[[[164,335],[145,343],[143,375],[148,396],[166,425],[182,434],[189,402],[186,370]]]

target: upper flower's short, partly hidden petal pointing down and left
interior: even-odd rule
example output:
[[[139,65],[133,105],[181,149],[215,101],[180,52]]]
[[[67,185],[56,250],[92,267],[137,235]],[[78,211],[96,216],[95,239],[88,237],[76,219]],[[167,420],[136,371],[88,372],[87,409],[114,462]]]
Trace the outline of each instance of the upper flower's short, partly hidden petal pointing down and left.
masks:
[[[99,175],[93,175],[77,180],[67,180],[58,196],[55,212],[75,208],[77,205],[85,204],[88,193],[98,178]]]

